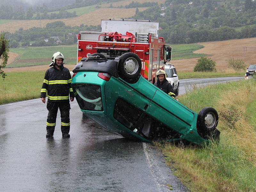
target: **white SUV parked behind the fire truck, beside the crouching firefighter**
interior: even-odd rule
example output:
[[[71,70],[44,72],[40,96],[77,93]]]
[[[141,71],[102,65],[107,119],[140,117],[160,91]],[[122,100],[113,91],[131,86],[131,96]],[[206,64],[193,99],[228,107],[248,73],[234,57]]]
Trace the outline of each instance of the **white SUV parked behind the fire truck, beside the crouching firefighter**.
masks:
[[[176,95],[179,94],[180,81],[177,75],[176,68],[172,64],[165,64],[164,71],[167,75],[167,81],[172,85],[173,91]]]

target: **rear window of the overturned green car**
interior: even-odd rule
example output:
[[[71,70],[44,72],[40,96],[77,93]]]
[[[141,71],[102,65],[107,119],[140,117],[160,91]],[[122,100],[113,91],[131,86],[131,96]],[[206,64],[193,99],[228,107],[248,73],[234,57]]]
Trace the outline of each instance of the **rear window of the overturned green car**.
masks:
[[[72,88],[81,109],[103,111],[100,85],[72,84]]]

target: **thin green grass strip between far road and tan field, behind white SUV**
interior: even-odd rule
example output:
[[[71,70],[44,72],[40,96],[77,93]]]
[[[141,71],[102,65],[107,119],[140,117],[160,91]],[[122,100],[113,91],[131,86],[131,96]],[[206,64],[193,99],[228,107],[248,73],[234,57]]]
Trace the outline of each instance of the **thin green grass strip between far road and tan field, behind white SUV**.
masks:
[[[244,72],[178,72],[179,79],[195,79],[195,78],[213,78],[213,77],[240,77],[244,76]]]

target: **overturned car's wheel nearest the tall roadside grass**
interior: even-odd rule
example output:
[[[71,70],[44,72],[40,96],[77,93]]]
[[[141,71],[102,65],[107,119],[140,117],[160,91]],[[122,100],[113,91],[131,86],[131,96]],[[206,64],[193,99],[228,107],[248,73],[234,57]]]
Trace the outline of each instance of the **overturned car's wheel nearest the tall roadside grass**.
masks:
[[[217,111],[211,107],[203,108],[197,117],[197,131],[204,139],[219,140],[220,134],[216,135],[219,116]]]

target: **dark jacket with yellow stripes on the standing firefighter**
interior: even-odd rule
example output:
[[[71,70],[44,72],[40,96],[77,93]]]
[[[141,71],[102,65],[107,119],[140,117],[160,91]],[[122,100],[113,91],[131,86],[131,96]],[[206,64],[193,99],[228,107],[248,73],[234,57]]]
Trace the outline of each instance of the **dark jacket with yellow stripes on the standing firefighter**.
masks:
[[[71,87],[71,75],[68,68],[61,66],[60,70],[55,67],[47,69],[44,75],[44,82],[41,89],[41,96],[48,94],[50,101],[68,101],[75,97]]]

